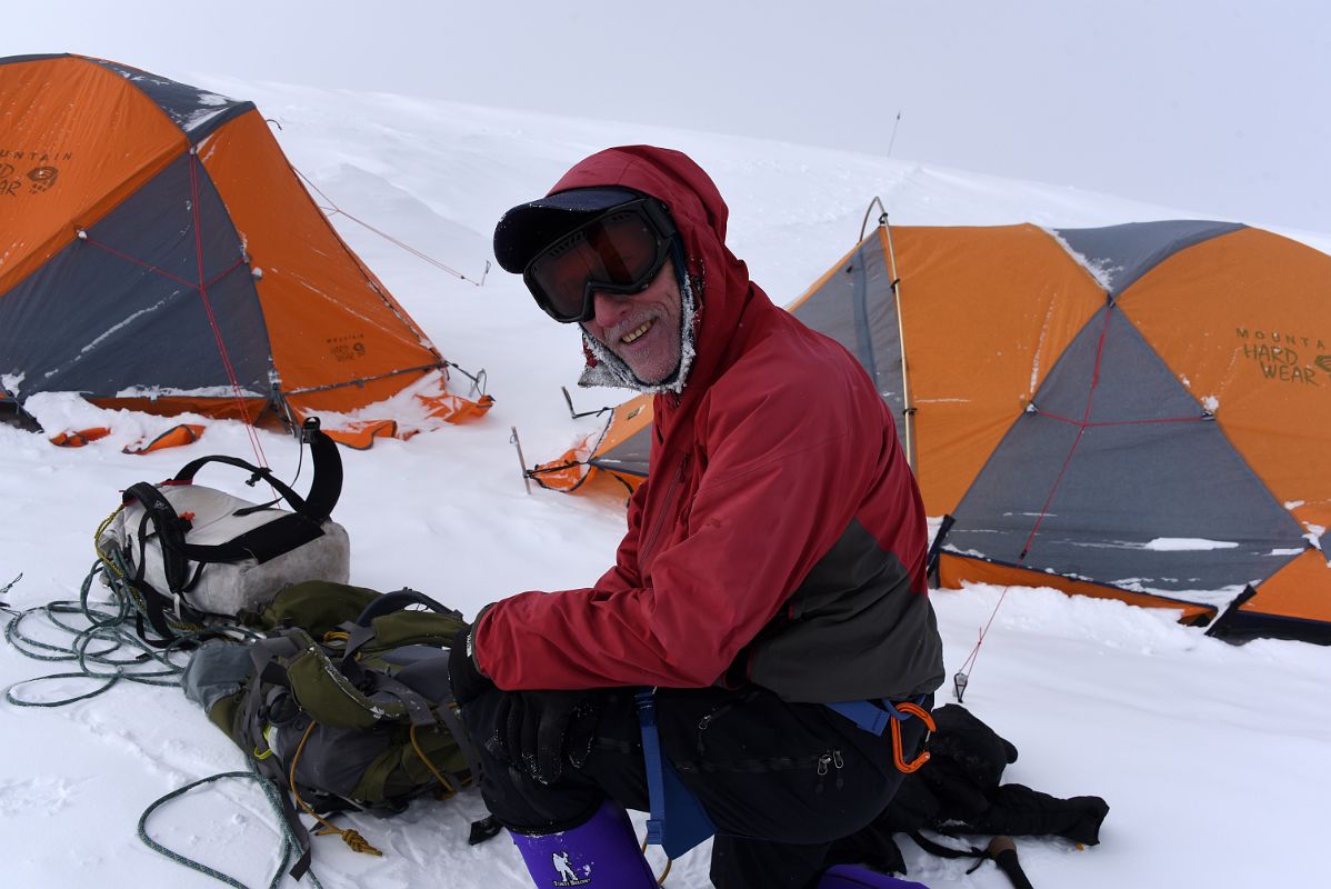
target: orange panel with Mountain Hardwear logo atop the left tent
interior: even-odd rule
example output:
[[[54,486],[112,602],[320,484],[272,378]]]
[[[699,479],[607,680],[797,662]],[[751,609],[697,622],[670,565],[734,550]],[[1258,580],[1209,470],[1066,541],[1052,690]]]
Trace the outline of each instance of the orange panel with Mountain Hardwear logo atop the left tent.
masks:
[[[0,65],[0,293],[189,148],[124,77],[92,61]]]

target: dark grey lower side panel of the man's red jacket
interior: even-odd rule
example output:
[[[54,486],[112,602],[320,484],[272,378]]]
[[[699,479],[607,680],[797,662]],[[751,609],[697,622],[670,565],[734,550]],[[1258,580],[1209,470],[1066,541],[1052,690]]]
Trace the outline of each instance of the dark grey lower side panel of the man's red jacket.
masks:
[[[753,644],[748,676],[783,700],[900,700],[942,684],[929,596],[910,591],[910,572],[857,519],[773,627]]]

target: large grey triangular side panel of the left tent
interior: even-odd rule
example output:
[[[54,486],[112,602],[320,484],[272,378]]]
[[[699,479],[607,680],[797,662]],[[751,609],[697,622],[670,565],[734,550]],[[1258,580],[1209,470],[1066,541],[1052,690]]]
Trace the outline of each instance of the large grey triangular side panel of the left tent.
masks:
[[[198,188],[213,314],[241,386],[264,394],[272,362],[258,294],[248,265],[237,265],[240,238],[202,170]],[[91,228],[88,242],[72,241],[0,294],[0,373],[23,374],[20,398],[229,385],[208,313],[189,286],[200,279],[192,196],[182,156]]]

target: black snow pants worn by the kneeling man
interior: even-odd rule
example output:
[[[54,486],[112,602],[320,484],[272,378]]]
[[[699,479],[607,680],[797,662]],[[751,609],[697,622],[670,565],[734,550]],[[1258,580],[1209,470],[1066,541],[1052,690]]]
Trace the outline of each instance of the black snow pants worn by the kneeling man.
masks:
[[[467,704],[467,731],[480,751],[482,795],[519,833],[578,826],[608,797],[647,812],[647,775],[635,689],[596,692],[602,715],[582,769],[544,785],[495,757],[486,744],[504,692]],[[930,705],[932,700],[925,701]],[[760,688],[659,689],[663,753],[716,825],[717,889],[804,889],[817,884],[832,844],[869,824],[902,780],[892,733],[872,735],[821,704],[791,704]],[[902,724],[908,756],[924,724]]]

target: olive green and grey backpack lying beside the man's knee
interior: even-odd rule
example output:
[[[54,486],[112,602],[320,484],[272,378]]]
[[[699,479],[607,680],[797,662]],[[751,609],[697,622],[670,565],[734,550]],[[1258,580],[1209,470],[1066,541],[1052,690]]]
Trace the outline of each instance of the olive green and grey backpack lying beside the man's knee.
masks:
[[[378,853],[322,816],[391,814],[415,796],[449,797],[475,784],[478,760],[449,687],[447,645],[465,625],[459,612],[413,590],[310,580],[241,620],[265,636],[201,645],[185,669],[185,695],[256,771],[290,791],[286,821],[305,866],[301,810],[351,848]]]

